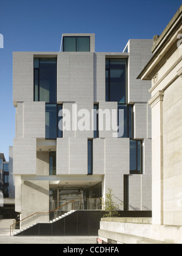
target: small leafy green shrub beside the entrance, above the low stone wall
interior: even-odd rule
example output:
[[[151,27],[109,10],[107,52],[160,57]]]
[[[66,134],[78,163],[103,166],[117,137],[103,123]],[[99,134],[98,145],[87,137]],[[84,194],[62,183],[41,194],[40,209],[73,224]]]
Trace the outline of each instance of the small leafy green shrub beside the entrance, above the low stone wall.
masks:
[[[108,193],[106,194],[106,200],[104,204],[104,218],[113,218],[118,217],[118,208],[120,207],[113,199],[112,189],[108,189]]]

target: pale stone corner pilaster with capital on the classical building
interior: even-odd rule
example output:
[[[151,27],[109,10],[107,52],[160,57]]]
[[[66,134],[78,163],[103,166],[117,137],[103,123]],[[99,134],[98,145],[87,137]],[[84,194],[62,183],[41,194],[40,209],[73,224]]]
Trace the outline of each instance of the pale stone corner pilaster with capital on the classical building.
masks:
[[[149,104],[152,108],[152,224],[163,225],[163,98],[158,91]]]

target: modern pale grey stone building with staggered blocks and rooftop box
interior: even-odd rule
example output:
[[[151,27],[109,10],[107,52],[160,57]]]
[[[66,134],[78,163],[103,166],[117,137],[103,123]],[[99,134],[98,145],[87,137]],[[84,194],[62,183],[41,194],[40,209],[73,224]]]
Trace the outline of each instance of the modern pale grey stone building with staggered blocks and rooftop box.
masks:
[[[98,208],[108,188],[120,210],[151,210],[150,81],[136,80],[151,47],[95,52],[94,34],[64,34],[60,52],[13,53],[21,219],[80,198],[78,209]]]

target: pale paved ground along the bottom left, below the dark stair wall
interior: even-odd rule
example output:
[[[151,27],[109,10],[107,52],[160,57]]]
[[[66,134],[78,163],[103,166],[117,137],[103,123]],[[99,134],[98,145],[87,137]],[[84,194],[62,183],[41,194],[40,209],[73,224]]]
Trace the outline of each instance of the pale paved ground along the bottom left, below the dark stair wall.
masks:
[[[96,244],[96,236],[10,236],[0,229],[0,244]]]

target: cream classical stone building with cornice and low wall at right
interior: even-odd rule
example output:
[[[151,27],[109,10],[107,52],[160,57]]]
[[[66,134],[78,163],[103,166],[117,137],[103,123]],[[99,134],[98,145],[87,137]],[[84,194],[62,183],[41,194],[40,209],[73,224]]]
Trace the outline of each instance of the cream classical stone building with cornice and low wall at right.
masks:
[[[163,33],[153,38],[152,53],[138,77],[152,80],[152,219],[103,221],[99,235],[120,243],[181,244],[182,5]]]

